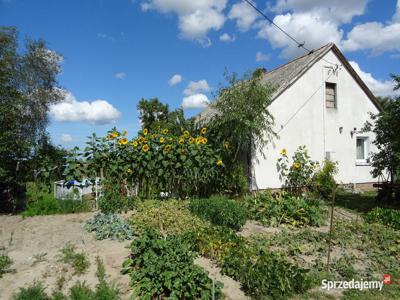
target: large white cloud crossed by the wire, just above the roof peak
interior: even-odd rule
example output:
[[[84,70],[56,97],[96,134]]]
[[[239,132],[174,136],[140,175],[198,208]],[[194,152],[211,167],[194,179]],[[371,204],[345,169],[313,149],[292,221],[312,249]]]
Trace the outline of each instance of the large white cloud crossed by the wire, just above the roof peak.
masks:
[[[306,41],[305,47],[308,49],[319,48],[329,42],[339,44],[343,36],[337,23],[317,13],[287,13],[276,16],[273,21],[292,33],[298,41]],[[303,49],[298,48],[297,44],[269,23],[263,22],[257,35],[267,39],[273,48],[283,48],[281,56],[284,58],[304,54]]]

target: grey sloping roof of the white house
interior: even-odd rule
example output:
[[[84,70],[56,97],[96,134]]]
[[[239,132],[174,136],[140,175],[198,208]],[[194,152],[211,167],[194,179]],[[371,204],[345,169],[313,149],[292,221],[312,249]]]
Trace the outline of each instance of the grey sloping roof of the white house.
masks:
[[[272,95],[272,100],[278,98],[286,89],[292,86],[305,72],[307,72],[317,61],[325,56],[330,50],[332,50],[338,59],[341,61],[343,66],[350,72],[353,78],[356,80],[358,85],[364,90],[367,96],[375,104],[375,106],[381,110],[381,105],[376,100],[375,96],[367,85],[362,81],[360,76],[356,73],[344,55],[340,52],[339,48],[334,43],[326,44],[321,48],[312,50],[310,53],[297,57],[288,63],[277,67],[263,75],[262,81],[266,84],[271,85],[275,88],[275,92]],[[210,104],[205,108],[198,116],[197,120],[208,121],[211,117],[215,116],[217,111]]]

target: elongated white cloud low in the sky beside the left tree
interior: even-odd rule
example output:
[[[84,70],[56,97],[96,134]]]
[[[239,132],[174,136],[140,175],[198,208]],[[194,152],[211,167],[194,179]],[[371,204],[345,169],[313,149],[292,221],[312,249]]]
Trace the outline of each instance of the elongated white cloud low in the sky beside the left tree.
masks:
[[[78,101],[64,91],[64,101],[50,107],[50,116],[58,122],[115,123],[121,113],[106,100]]]

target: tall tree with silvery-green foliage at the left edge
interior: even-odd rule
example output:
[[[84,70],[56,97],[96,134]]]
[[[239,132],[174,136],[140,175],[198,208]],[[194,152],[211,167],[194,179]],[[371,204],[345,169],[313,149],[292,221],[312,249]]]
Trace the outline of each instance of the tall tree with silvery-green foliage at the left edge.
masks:
[[[0,185],[8,191],[31,176],[49,107],[62,99],[56,80],[62,57],[43,40],[28,38],[18,49],[17,30],[0,27]]]

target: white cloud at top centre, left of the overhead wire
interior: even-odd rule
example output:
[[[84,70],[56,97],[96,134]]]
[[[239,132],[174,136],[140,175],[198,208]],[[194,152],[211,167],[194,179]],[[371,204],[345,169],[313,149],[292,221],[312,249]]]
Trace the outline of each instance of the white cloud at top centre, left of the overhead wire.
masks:
[[[225,23],[223,10],[227,0],[147,0],[142,2],[143,11],[156,10],[178,16],[180,36],[209,46],[207,33],[219,30]]]

